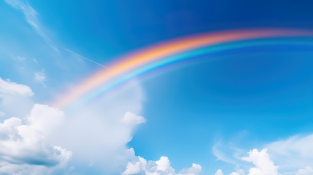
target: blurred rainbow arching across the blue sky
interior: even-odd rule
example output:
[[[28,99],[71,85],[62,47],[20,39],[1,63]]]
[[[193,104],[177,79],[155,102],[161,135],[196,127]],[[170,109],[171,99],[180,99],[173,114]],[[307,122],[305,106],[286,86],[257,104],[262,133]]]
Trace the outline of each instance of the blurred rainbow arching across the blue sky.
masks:
[[[117,59],[109,64],[110,69],[95,72],[51,106],[60,109],[81,107],[135,76],[203,53],[271,43],[260,39],[312,36],[313,32],[306,30],[246,29],[198,34],[161,42]],[[277,42],[272,44],[281,44]]]

